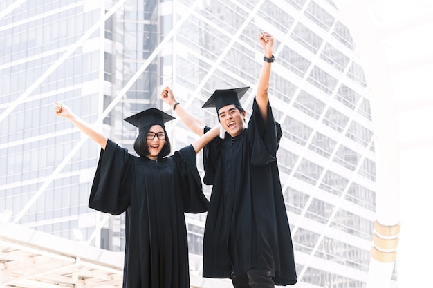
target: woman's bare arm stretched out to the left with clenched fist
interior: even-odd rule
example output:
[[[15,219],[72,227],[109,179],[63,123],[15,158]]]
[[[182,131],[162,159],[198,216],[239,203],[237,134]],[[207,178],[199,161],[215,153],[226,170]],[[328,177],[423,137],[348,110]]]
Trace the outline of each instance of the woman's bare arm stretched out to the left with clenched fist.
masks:
[[[94,140],[96,143],[100,144],[102,149],[105,150],[105,146],[107,146],[108,141],[107,137],[93,129],[89,124],[82,121],[82,119],[75,116],[75,114],[72,113],[71,110],[69,110],[68,106],[60,102],[55,102],[54,111],[57,116],[64,117],[71,121],[75,126],[77,126],[77,128],[79,128],[82,132],[91,137],[91,139]]]

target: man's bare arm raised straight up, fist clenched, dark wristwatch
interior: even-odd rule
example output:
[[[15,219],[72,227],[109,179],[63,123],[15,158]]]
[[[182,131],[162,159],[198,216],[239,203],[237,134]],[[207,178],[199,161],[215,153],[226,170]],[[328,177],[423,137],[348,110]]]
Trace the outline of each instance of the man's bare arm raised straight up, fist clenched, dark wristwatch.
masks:
[[[273,41],[274,38],[267,32],[261,32],[259,34],[259,42],[261,47],[264,49],[264,57],[267,59],[272,59],[268,61],[263,61],[263,66],[261,67],[259,82],[257,83],[257,93],[256,93],[256,101],[259,106],[261,117],[263,117],[264,121],[268,119],[268,89],[270,82],[270,68],[273,61]]]

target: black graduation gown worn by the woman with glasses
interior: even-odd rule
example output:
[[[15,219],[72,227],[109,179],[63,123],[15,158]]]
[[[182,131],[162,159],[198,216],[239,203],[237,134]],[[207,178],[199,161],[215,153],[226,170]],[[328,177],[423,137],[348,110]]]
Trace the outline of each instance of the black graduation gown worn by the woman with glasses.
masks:
[[[185,215],[207,211],[190,145],[158,161],[109,140],[101,150],[89,207],[126,217],[124,288],[189,288]]]

